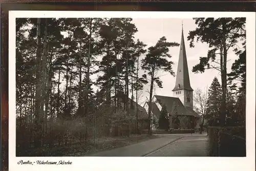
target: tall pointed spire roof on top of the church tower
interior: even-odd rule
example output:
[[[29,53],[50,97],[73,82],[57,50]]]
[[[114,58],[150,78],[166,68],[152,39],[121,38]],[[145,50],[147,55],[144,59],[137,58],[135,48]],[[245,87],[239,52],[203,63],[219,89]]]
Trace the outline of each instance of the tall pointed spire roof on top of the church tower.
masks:
[[[184,43],[184,36],[183,36],[183,28],[181,33],[181,43],[180,43],[180,55],[178,61],[178,68],[177,68],[177,76],[176,76],[176,83],[173,91],[176,90],[192,90],[189,81],[189,74],[187,68],[187,56],[185,50],[185,43]]]

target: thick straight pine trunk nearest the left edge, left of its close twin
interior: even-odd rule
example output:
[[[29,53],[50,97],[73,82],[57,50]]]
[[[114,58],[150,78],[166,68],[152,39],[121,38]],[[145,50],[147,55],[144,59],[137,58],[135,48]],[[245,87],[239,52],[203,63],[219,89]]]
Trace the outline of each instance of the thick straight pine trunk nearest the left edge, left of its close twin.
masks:
[[[37,32],[36,32],[36,91],[35,91],[35,136],[34,146],[39,147],[41,144],[41,52],[40,52],[40,24],[41,18],[37,18]]]

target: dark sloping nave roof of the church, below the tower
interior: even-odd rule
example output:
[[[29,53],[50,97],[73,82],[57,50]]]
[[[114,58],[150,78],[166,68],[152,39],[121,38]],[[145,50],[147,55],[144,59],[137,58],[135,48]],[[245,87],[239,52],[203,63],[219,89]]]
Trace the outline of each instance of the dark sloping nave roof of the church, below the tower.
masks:
[[[186,107],[182,104],[179,98],[177,97],[168,97],[168,96],[159,96],[155,95],[157,102],[161,106],[165,105],[166,110],[169,114],[173,112],[173,105],[176,104],[178,115],[184,116],[195,116],[200,117],[192,108]]]

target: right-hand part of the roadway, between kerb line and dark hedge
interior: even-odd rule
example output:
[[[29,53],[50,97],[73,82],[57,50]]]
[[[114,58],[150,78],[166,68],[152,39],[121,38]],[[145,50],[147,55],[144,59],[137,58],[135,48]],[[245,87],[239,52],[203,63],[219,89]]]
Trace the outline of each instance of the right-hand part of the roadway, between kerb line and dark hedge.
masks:
[[[206,135],[186,135],[145,157],[206,157]]]

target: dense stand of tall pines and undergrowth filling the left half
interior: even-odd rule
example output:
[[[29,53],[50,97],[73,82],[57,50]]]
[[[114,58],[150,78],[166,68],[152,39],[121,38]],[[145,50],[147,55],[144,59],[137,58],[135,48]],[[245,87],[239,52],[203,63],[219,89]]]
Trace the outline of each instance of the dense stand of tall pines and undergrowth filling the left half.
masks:
[[[86,144],[135,123],[127,99],[146,83],[136,76],[146,52],[137,31],[132,18],[16,19],[18,153]]]

